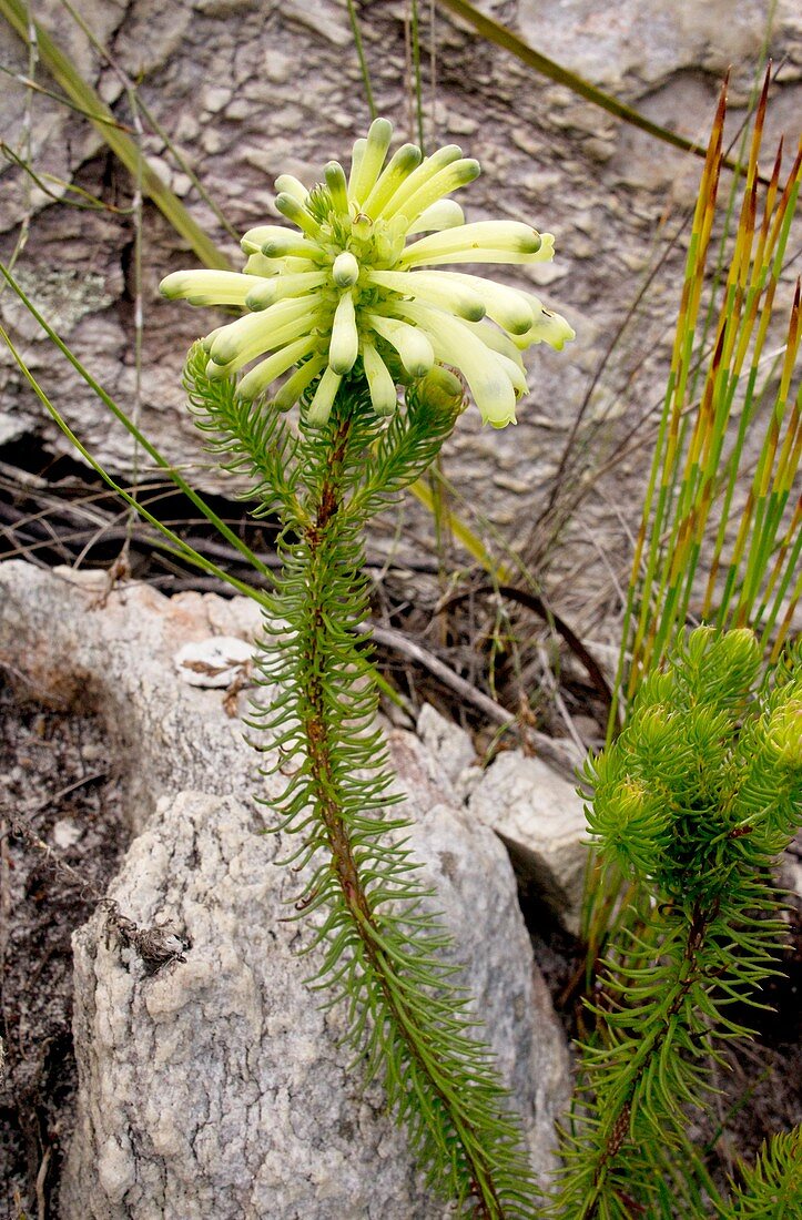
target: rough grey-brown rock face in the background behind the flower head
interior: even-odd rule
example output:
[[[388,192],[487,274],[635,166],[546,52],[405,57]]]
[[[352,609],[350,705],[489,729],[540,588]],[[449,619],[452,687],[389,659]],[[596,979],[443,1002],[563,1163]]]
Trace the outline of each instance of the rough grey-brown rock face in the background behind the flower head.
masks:
[[[802,18],[796,0],[779,0],[776,6],[770,0],[739,5],[623,0],[614,9],[601,0],[548,5],[483,0],[481,7],[516,28],[532,46],[615,90],[657,122],[702,139],[728,65],[734,65],[734,129],[741,122],[774,9],[768,50],[782,71],[770,106],[769,145],[782,128],[786,148],[796,145],[802,110]],[[311,183],[327,160],[347,156],[354,135],[364,131],[360,70],[341,0],[321,0],[311,7],[256,0],[172,0],[168,5],[84,0],[81,10],[95,37],[110,46],[115,63],[139,82],[140,96],[238,233],[270,216],[280,172]],[[131,124],[125,82],[92,50],[59,0],[43,0],[35,11],[68,46],[115,115]],[[519,411],[518,428],[491,436],[481,428],[477,412],[470,411],[444,456],[464,503],[525,550],[533,504],[554,489],[559,458],[588,378],[641,287],[667,217],[670,221],[677,205],[687,204],[696,190],[698,162],[540,78],[477,39],[443,7],[435,6],[435,11],[437,109],[431,131],[427,100],[427,140],[457,140],[481,160],[482,177],[464,193],[472,218],[499,212],[531,217],[557,233],[554,266],[508,268],[505,278],[542,290],[577,331],[577,342],[566,351],[541,348],[532,354],[532,393]],[[408,20],[408,5],[360,6],[376,104],[397,122],[403,137],[413,134],[406,129]],[[424,45],[428,45],[427,9],[421,10],[421,21]],[[0,57],[12,70],[28,72],[28,52],[5,26],[0,26]],[[37,94],[28,121],[24,89],[12,79],[6,85],[9,104],[0,115],[0,137],[24,152],[29,132],[38,173],[76,182],[123,209],[122,214],[72,211],[67,222],[52,198],[32,185],[22,171],[11,163],[0,171],[0,249],[11,250],[20,224],[31,214],[32,233],[17,264],[23,285],[95,377],[131,410],[137,285],[132,220],[125,214],[129,178],[101,151],[100,137],[81,116]],[[199,198],[186,168],[146,120],[144,126],[150,163],[237,260],[236,243]],[[770,156],[769,149],[768,161]],[[49,189],[62,195],[66,188],[56,182]],[[189,343],[216,325],[215,315],[159,300],[159,278],[195,259],[179,249],[150,204],[144,228],[142,426],[171,460],[209,486],[212,476],[184,410],[179,372]],[[604,415],[608,422],[587,448],[591,466],[604,465],[634,418],[662,399],[671,320],[681,293],[681,246],[680,240],[647,292],[637,325],[596,387],[586,422],[594,426]],[[66,364],[54,359],[35,322],[7,290],[0,309],[23,340],[34,373],[56,395],[88,447],[112,470],[129,468],[131,439],[121,428],[110,427],[105,409]],[[48,447],[68,451],[68,442],[44,418],[5,349],[0,349],[0,389],[5,392],[0,438],[39,436]],[[608,559],[616,547],[627,551],[620,518],[627,505],[637,505],[643,477],[640,454],[618,465],[582,506],[581,521],[563,534],[574,547],[573,561],[579,558],[571,580],[559,590],[563,610],[585,612],[590,590],[608,588],[591,534],[605,538]],[[399,537],[409,543],[419,531],[424,540],[431,539],[421,510],[410,505],[405,511]],[[612,587],[609,598],[616,604]],[[592,614],[588,617],[593,620]],[[574,626],[581,623],[574,619]]]

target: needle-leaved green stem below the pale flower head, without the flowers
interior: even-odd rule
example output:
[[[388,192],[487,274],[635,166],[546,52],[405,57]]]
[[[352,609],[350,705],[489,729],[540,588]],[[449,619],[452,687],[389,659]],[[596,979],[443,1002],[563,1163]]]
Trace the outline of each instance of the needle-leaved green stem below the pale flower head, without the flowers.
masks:
[[[392,789],[375,727],[376,683],[364,636],[366,514],[420,473],[453,428],[459,395],[424,382],[393,422],[372,411],[367,384],[341,388],[328,423],[299,434],[264,404],[210,382],[198,348],[186,382],[195,418],[228,468],[254,481],[260,510],[277,511],[282,573],[259,660],[270,702],[253,723],[292,773],[278,827],[298,836],[284,863],[304,871],[298,919],[311,917],[310,983],[342,1003],[354,1065],[383,1076],[428,1181],[460,1214],[531,1216],[535,1186],[509,1099],[469,1000],[443,956],[449,939],[405,847],[403,799]],[[446,387],[448,389],[448,386]]]

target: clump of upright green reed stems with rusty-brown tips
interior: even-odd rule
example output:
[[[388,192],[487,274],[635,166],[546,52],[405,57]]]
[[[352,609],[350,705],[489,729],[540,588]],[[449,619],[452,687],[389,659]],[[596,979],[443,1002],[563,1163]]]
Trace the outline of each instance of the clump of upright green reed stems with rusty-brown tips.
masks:
[[[659,665],[688,616],[720,627],[752,626],[764,645],[774,643],[776,656],[798,598],[798,588],[792,588],[800,548],[798,508],[789,518],[802,448],[798,392],[790,406],[800,351],[798,284],[775,382],[771,370],[776,361],[768,348],[778,326],[778,288],[800,190],[801,156],[797,152],[785,184],[781,150],[771,176],[760,178],[768,84],[767,74],[713,342],[693,373],[706,325],[703,300],[723,165],[724,94],[708,145],[630,578],[619,662],[620,683],[625,656],[631,655],[625,699],[632,697],[643,673]],[[762,181],[767,182],[763,190]],[[762,377],[767,364],[769,376]],[[741,505],[739,490],[756,450],[754,475]]]

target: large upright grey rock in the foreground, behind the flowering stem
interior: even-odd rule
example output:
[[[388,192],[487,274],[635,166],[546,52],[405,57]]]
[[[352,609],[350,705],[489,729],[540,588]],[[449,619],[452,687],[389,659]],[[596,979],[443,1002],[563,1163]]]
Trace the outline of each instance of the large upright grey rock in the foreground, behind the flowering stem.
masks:
[[[466,834],[443,804],[427,815],[417,854],[448,924],[461,928],[458,952],[504,1074],[538,1110],[543,1168],[564,1047],[548,997],[521,971],[513,887],[505,877],[499,889],[492,839]],[[106,943],[103,916],[77,933],[82,1083],[63,1220],[446,1214],[421,1190],[381,1088],[365,1091],[359,1070],[348,1072],[350,1053],[336,1046],[342,1011],[322,1013],[304,987],[311,963],[293,953],[297,926],[282,922],[299,882],[275,867],[277,848],[233,798],[165,799],[111,893],[143,925],[168,916],[179,926],[192,941],[186,965],[146,977]],[[533,1008],[547,1015],[544,1039],[531,1036]]]

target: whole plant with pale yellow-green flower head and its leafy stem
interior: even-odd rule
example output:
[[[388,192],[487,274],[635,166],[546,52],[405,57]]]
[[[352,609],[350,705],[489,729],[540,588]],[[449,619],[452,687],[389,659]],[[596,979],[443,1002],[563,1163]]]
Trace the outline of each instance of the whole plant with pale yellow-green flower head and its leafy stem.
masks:
[[[447,196],[479,163],[455,145],[424,157],[413,144],[385,163],[391,135],[375,120],[348,178],[336,161],[311,190],[281,176],[276,209],[294,227],[249,229],[242,273],[178,271],[161,290],[244,311],[193,345],[184,384],[214,451],[253,477],[256,511],[281,521],[258,660],[273,697],[254,722],[273,737],[275,770],[286,777],[293,760],[272,813],[303,839],[289,860],[323,949],[315,987],[345,1002],[347,1041],[382,1072],[430,1183],[460,1214],[513,1220],[532,1215],[537,1193],[522,1132],[443,955],[431,891],[397,838],[406,822],[375,727],[363,537],[435,461],[465,383],[486,422],[515,422],[521,353],[562,348],[574,331],[530,293],[439,270],[543,262],[554,239],[520,222],[466,224]],[[291,428],[282,412],[295,403]]]

